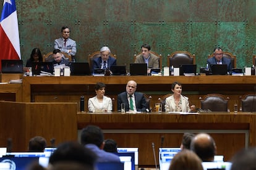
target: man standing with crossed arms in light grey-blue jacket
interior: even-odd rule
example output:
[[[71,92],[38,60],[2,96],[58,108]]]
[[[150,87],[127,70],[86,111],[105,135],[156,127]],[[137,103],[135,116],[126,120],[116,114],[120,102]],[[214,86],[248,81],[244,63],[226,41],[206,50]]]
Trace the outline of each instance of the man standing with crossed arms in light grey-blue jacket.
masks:
[[[71,55],[72,62],[75,62],[75,54],[77,53],[77,44],[69,38],[70,29],[67,26],[61,28],[62,37],[54,40],[54,49],[66,52]]]

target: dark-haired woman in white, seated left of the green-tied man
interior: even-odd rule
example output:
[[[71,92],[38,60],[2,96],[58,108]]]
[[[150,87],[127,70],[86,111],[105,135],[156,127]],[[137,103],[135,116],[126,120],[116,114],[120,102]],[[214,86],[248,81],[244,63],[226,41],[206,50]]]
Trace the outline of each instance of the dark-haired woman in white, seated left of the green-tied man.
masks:
[[[112,111],[112,100],[105,96],[106,85],[104,83],[96,83],[95,92],[96,96],[88,100],[88,111],[89,112],[111,112]]]

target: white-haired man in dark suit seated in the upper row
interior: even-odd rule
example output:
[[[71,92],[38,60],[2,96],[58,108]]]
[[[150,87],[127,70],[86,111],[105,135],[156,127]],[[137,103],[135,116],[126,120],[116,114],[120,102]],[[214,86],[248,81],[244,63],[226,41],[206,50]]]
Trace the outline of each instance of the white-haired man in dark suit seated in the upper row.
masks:
[[[109,47],[101,47],[100,49],[100,57],[93,60],[93,70],[95,68],[105,69],[110,68],[112,65],[116,65],[116,59],[111,57],[109,54],[111,53]],[[92,70],[92,72],[93,72]]]

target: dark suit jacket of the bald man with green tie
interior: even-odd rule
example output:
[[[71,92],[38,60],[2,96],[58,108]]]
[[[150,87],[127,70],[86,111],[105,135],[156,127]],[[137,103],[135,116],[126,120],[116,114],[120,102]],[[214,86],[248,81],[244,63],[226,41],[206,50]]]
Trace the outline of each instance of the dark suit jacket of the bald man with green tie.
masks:
[[[146,111],[147,102],[144,95],[141,92],[135,92],[134,98],[135,98],[137,111]],[[121,110],[121,103],[126,104],[126,111],[130,110],[130,105],[127,99],[127,92],[122,92],[121,94],[117,95],[117,110]]]

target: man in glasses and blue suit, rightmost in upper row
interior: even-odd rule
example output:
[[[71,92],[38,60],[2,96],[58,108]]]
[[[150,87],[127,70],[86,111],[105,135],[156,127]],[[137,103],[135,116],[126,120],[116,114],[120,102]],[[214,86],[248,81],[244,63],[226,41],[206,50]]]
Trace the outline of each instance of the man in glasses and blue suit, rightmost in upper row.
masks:
[[[223,51],[221,47],[216,47],[213,51],[214,57],[207,59],[207,63],[210,67],[211,64],[226,64],[228,66],[228,72],[231,72],[231,60],[223,57]]]

